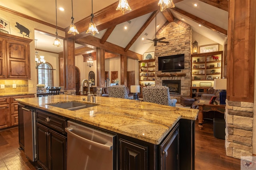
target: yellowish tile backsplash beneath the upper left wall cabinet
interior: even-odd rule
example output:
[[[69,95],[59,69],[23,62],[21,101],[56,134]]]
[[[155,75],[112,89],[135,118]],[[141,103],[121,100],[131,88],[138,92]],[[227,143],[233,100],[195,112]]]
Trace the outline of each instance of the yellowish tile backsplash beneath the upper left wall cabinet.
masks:
[[[28,92],[28,80],[0,80],[4,84],[4,89],[0,89],[0,94]],[[12,85],[16,84],[16,88]]]

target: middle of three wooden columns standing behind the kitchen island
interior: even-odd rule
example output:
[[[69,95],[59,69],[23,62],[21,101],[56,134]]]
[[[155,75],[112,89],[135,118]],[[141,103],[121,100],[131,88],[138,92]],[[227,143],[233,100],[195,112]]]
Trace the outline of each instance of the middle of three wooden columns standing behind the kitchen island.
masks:
[[[105,55],[104,49],[97,48],[97,86],[105,86]]]

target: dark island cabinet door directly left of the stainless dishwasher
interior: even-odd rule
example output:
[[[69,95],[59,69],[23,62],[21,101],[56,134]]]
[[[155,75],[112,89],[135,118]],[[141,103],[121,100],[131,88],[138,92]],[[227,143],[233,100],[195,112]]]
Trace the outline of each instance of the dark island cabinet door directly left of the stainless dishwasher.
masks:
[[[67,137],[50,130],[50,169],[66,170],[66,141]]]

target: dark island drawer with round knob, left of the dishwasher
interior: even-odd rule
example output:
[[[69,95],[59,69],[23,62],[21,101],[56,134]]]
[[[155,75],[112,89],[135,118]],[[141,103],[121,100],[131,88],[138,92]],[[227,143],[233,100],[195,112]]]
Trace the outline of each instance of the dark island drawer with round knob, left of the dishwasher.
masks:
[[[66,119],[37,110],[36,121],[60,133],[65,133]]]

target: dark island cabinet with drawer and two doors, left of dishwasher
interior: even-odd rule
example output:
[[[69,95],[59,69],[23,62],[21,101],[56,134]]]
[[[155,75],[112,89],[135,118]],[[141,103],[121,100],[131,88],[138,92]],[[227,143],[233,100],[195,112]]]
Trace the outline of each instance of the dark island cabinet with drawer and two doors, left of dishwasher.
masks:
[[[36,117],[38,164],[48,170],[66,170],[66,120],[42,111],[36,111]]]

